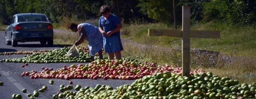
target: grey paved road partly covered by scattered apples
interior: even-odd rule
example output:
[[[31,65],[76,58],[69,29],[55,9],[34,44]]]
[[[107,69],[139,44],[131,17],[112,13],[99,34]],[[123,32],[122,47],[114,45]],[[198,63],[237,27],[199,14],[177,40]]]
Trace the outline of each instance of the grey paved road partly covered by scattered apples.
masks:
[[[18,47],[12,47],[10,45],[5,45],[4,32],[0,31],[0,52],[13,52],[20,50],[49,50],[64,47],[65,45],[53,45],[52,47],[41,46],[40,42],[18,42]],[[20,58],[23,55],[2,55],[0,60],[9,58]],[[27,99],[28,93],[33,93],[34,90],[39,90],[42,86],[46,85],[48,90],[45,92],[39,92],[40,95],[36,99],[52,99],[52,95],[59,91],[59,85],[69,85],[69,81],[73,81],[73,87],[77,84],[82,87],[89,86],[95,87],[97,84],[110,85],[113,88],[124,84],[131,84],[134,80],[92,80],[92,79],[72,79],[72,80],[61,80],[61,79],[30,79],[28,76],[22,77],[21,73],[24,71],[41,71],[41,67],[45,68],[61,68],[62,66],[70,66],[71,64],[88,64],[88,63],[51,63],[51,64],[32,64],[29,63],[28,66],[22,68],[23,63],[0,63],[0,82],[4,82],[3,86],[0,86],[0,99],[12,99],[12,94],[21,94],[22,99]],[[54,80],[53,85],[49,84],[49,80]],[[22,89],[27,89],[28,92],[22,93]],[[75,90],[71,90],[75,91]]]

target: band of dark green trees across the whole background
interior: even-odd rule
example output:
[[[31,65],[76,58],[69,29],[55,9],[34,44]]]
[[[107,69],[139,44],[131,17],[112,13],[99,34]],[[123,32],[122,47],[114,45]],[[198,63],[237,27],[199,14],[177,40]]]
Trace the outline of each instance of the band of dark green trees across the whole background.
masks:
[[[256,23],[255,0],[175,0],[178,23],[182,6],[191,7],[193,21],[223,21],[233,25]],[[0,0],[0,21],[6,24],[14,14],[43,13],[51,22],[62,17],[77,20],[98,18],[100,7],[109,5],[111,13],[125,22],[144,19],[173,23],[173,0]]]

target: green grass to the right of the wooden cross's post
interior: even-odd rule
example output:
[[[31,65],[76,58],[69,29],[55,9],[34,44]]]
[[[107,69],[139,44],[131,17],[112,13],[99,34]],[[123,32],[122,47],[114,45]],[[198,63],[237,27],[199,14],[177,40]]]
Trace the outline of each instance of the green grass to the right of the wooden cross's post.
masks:
[[[192,39],[192,47],[214,50],[222,54],[255,57],[256,26],[229,26],[224,23],[197,24],[196,30],[219,30],[220,39]]]

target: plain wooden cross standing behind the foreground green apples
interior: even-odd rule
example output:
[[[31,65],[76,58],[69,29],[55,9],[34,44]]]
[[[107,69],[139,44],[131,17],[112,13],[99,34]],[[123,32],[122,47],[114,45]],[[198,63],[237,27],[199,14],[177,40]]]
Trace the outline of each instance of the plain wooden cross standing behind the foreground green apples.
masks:
[[[190,75],[190,38],[220,38],[219,31],[190,30],[190,7],[182,7],[182,30],[149,29],[149,36],[173,36],[182,38],[182,75]]]

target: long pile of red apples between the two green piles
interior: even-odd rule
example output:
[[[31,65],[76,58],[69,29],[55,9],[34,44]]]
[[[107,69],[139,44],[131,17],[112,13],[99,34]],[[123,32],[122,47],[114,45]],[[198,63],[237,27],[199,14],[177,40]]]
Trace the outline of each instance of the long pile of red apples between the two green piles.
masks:
[[[57,79],[121,79],[121,80],[135,80],[142,78],[145,75],[153,75],[155,73],[163,73],[170,71],[173,73],[181,73],[182,68],[176,68],[166,64],[165,66],[156,66],[156,63],[143,64],[137,60],[131,61],[128,58],[122,60],[97,59],[89,64],[71,65],[69,67],[63,66],[53,70],[52,68],[44,68],[43,71],[23,72],[22,76],[30,76],[31,79],[37,78],[57,78]],[[190,74],[201,73],[203,70],[192,70]]]

